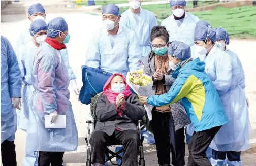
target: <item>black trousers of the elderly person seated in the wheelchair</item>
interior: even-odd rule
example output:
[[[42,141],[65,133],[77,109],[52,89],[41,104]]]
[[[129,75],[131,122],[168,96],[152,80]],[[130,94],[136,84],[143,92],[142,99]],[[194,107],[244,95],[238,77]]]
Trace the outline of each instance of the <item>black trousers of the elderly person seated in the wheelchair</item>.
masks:
[[[122,145],[123,158],[122,166],[137,166],[138,151],[140,145],[139,132],[136,130],[115,130],[109,136],[103,131],[94,131],[90,139],[91,163],[105,164],[105,153],[107,146]]]

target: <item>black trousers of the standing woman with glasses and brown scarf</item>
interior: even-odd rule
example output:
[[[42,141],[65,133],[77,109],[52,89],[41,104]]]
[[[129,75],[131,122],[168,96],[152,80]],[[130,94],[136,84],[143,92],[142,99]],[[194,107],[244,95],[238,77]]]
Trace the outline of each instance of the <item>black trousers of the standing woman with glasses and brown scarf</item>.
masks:
[[[153,129],[158,164],[170,165],[171,148],[172,164],[174,166],[185,165],[184,128],[175,132],[172,113],[162,113],[153,110],[150,124]]]

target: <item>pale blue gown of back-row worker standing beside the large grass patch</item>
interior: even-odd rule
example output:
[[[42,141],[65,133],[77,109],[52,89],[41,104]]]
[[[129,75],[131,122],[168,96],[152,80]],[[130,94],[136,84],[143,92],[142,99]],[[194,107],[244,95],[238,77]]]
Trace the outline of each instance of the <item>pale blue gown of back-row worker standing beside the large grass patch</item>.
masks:
[[[185,12],[185,18],[175,20],[173,14],[167,17],[162,23],[169,32],[169,41],[183,42],[189,46],[195,45],[194,32],[199,18],[191,13]]]

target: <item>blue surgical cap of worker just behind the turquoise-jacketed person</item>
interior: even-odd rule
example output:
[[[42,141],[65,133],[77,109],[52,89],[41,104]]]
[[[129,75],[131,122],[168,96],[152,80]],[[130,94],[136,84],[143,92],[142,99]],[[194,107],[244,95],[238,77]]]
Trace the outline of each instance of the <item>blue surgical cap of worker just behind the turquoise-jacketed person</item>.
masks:
[[[207,39],[211,39],[212,42],[216,42],[216,32],[209,26],[196,26],[194,40],[205,41]]]

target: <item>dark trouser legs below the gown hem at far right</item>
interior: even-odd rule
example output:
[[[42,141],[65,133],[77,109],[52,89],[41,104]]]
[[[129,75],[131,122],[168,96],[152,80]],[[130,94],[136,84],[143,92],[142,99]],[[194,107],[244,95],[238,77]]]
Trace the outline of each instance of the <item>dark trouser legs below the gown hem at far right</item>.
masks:
[[[215,160],[225,160],[226,156],[229,161],[240,161],[241,152],[234,152],[234,151],[228,151],[228,152],[220,152],[212,149],[212,158]]]

